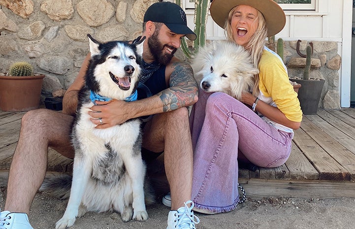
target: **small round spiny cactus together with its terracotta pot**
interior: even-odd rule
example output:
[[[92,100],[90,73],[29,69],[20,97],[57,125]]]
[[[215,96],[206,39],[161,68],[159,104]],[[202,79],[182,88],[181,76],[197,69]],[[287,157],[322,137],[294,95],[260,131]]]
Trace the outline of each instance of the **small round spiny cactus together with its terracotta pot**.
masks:
[[[7,73],[0,74],[0,109],[28,111],[39,107],[43,74],[33,74],[27,62],[10,65]]]

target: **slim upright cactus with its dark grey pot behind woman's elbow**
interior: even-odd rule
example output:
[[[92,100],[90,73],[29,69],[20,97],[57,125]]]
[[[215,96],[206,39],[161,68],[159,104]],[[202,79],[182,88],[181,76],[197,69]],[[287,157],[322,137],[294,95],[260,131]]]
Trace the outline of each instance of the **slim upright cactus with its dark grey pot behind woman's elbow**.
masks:
[[[297,50],[297,52],[299,52]],[[307,45],[306,55],[300,55],[306,58],[306,65],[303,71],[302,79],[290,79],[293,82],[297,82],[302,85],[298,91],[298,100],[301,105],[301,110],[305,115],[317,114],[319,101],[323,90],[323,79],[311,79],[309,78],[309,71],[311,69],[311,55],[312,44]]]

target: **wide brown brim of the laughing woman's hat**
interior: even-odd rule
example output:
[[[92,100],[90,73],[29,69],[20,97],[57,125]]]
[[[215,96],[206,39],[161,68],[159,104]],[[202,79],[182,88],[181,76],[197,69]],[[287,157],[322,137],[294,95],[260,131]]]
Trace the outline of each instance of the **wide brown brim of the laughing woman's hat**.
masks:
[[[285,27],[285,13],[273,0],[213,0],[210,5],[213,21],[224,28],[229,11],[237,5],[249,5],[262,13],[267,25],[267,36],[280,33]]]

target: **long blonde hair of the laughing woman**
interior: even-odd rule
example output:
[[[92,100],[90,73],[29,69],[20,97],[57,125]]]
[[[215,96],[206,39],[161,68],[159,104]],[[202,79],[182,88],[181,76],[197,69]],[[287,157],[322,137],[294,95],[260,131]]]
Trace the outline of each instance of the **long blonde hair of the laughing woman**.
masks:
[[[235,7],[237,7],[237,6],[234,6],[229,11],[228,20],[226,20],[226,23],[225,23],[226,37],[227,37],[228,41],[230,41],[230,42],[235,42],[235,40],[233,39],[232,27],[230,25]],[[248,42],[245,49],[247,51],[249,51],[254,66],[258,68],[259,61],[260,61],[261,55],[262,55],[262,50],[264,49],[264,45],[265,45],[265,41],[266,41],[266,37],[267,37],[267,25],[266,25],[264,17],[262,16],[262,13],[258,9],[257,9],[257,11],[258,11],[258,16],[256,17],[255,22],[258,22],[258,28],[255,31],[254,35],[251,37],[251,39]],[[255,83],[254,83],[254,89],[253,89],[253,96],[257,96],[258,90],[259,90],[258,89],[259,75],[258,74],[254,75],[254,78],[255,78],[254,79]]]

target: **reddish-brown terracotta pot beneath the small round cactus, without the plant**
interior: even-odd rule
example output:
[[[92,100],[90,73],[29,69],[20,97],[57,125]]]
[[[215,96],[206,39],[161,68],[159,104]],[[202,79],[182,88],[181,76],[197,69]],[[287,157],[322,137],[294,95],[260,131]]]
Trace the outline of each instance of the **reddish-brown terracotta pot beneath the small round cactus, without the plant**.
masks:
[[[28,111],[39,107],[43,78],[34,76],[0,75],[0,109]]]

